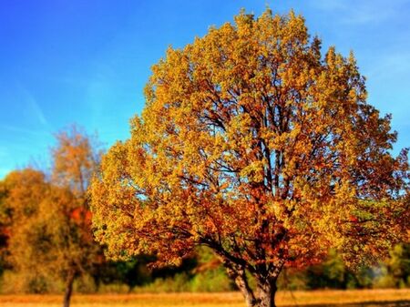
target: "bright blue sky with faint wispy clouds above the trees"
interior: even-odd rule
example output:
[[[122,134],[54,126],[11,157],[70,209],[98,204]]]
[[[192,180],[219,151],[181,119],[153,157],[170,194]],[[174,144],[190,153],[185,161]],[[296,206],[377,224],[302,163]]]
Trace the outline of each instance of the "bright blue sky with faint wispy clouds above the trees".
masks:
[[[169,45],[266,5],[304,15],[323,47],[354,50],[369,102],[393,114],[395,152],[410,146],[409,0],[0,0],[0,178],[46,160],[53,133],[71,123],[106,148],[128,138],[149,69]]]

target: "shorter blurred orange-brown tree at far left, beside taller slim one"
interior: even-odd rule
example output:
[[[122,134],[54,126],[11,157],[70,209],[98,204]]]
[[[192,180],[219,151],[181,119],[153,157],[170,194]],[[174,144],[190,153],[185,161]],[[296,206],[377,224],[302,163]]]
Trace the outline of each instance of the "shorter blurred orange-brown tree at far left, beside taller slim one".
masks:
[[[2,181],[7,214],[7,262],[17,273],[15,288],[27,292],[45,292],[50,267],[51,240],[45,231],[40,207],[50,193],[46,176],[35,169],[15,170]],[[37,265],[40,263],[41,265]],[[15,282],[14,282],[15,283]]]

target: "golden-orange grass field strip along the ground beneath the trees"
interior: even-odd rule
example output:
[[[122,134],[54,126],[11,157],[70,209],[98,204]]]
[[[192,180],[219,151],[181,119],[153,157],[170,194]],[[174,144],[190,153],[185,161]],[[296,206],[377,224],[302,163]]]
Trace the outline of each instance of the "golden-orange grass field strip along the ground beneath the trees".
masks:
[[[410,307],[408,290],[279,292],[278,306]],[[2,307],[56,307],[58,295],[0,295]],[[241,294],[163,293],[74,295],[73,307],[244,307]]]

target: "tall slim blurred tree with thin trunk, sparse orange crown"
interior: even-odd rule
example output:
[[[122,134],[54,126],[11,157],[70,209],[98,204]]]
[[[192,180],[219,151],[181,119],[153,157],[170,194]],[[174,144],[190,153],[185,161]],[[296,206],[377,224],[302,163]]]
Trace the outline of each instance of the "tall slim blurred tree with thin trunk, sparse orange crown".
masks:
[[[51,224],[55,226],[51,232],[57,235],[58,250],[64,251],[60,272],[66,280],[64,306],[67,307],[75,278],[102,261],[91,231],[87,197],[87,188],[97,170],[101,152],[97,150],[96,140],[76,126],[58,133],[56,140],[56,147],[52,149],[51,179],[61,190],[68,190],[73,195],[68,206],[56,206],[62,214],[56,214],[60,219]],[[55,214],[50,213],[50,216],[55,219]]]

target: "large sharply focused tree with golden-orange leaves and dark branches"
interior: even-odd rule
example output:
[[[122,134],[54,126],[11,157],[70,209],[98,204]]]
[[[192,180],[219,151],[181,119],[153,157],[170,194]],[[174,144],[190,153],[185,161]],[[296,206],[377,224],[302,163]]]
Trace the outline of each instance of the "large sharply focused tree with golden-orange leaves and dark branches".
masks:
[[[351,266],[403,233],[406,151],[366,102],[353,54],[310,38],[300,15],[241,12],[152,67],[131,137],[91,186],[97,240],[112,257],[178,264],[210,247],[248,306],[274,306],[283,267]],[[256,280],[252,289],[249,272]]]

